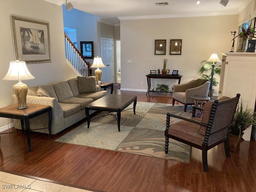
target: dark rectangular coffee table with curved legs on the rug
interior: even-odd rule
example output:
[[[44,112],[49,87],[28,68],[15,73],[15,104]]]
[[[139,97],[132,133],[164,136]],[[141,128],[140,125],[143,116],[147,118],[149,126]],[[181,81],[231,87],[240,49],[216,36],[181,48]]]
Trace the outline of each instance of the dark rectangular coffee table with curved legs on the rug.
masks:
[[[126,107],[128,107],[132,102],[133,102],[133,112],[135,114],[137,96],[109,94],[102,98],[97,99],[96,101],[88,104],[85,107],[87,127],[89,128],[90,126],[89,110],[102,110],[102,111],[109,111],[109,112],[117,112],[118,131],[120,131],[121,111],[123,111]]]

